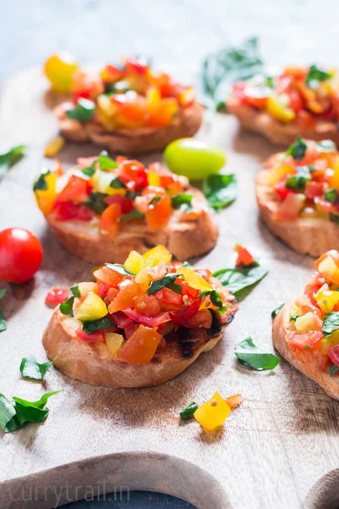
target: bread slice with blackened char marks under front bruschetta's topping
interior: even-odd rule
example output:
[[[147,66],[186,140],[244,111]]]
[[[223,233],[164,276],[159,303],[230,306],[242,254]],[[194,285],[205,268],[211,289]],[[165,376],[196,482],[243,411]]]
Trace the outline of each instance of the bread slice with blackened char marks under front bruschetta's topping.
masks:
[[[43,335],[49,359],[57,357],[54,366],[81,382],[106,387],[149,387],[167,382],[184,371],[202,352],[211,350],[222,338],[222,328],[237,312],[231,302],[224,315],[215,313],[210,330],[186,329],[166,336],[166,347],[158,348],[151,362],[130,364],[120,362],[105,343],[79,340],[75,330],[80,322],[54,310]]]

